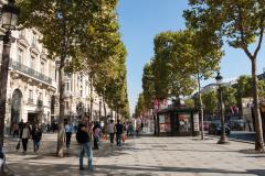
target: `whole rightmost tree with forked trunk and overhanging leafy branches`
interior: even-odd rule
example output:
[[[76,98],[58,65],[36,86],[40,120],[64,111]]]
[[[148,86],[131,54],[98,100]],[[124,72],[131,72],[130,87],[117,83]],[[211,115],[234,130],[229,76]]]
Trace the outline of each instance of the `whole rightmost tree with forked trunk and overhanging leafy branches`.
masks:
[[[190,0],[191,9],[184,11],[188,25],[205,30],[210,34],[223,37],[232,47],[241,48],[252,64],[252,85],[256,125],[255,150],[264,151],[262,119],[258,107],[256,77],[257,54],[261,51],[265,28],[265,1]],[[251,45],[255,44],[254,50]],[[252,52],[254,51],[254,52]]]

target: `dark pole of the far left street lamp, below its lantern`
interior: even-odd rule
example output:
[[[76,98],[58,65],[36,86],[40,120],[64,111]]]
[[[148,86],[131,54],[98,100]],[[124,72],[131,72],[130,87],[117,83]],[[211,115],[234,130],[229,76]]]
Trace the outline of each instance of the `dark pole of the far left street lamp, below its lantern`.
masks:
[[[2,63],[1,63],[1,69],[0,69],[0,152],[2,152],[3,139],[4,139],[8,72],[9,72],[10,47],[11,47],[10,35],[11,35],[11,32],[7,31],[3,38]]]

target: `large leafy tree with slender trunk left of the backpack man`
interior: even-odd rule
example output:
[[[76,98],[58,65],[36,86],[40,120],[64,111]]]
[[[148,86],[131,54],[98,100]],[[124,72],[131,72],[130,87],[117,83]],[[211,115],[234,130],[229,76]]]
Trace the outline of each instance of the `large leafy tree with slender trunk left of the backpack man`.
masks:
[[[75,69],[82,63],[102,62],[109,58],[117,46],[116,0],[20,0],[20,22],[25,28],[35,28],[40,40],[52,58],[60,58],[60,125],[57,156],[63,156],[63,113],[65,58],[72,59]],[[82,8],[80,8],[82,7]],[[81,18],[82,16],[82,18]]]

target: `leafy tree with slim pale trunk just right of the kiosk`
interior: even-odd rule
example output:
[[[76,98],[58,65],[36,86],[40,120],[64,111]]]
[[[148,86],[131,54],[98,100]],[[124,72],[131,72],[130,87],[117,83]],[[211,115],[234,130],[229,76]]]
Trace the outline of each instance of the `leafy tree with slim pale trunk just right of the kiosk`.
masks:
[[[179,31],[171,37],[171,66],[174,68],[174,73],[179,73],[179,78],[182,85],[187,88],[191,88],[190,92],[198,86],[199,89],[199,107],[201,116],[201,124],[203,124],[203,108],[201,99],[201,79],[208,79],[212,76],[213,72],[218,69],[222,52],[220,50],[220,43],[214,40],[210,42],[204,40],[208,36],[205,32],[197,32],[192,30]],[[215,38],[215,37],[212,37]],[[176,74],[177,75],[177,74]],[[195,81],[189,77],[197,79]],[[180,90],[179,88],[177,88]],[[193,89],[193,90],[192,90]],[[188,90],[188,89],[186,89]],[[204,132],[202,128],[202,139],[204,139]]]

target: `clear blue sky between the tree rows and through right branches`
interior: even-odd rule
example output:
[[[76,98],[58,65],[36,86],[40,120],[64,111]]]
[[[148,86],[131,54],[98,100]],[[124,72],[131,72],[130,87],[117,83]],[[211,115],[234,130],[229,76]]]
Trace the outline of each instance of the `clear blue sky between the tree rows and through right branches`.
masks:
[[[184,29],[182,11],[188,0],[120,0],[118,15],[120,33],[127,48],[127,76],[130,112],[141,89],[142,68],[153,56],[153,38],[165,31]],[[258,73],[265,67],[265,46],[258,55]],[[251,74],[251,62],[241,50],[224,46],[225,56],[221,63],[224,79]],[[214,81],[206,80],[203,85]]]

